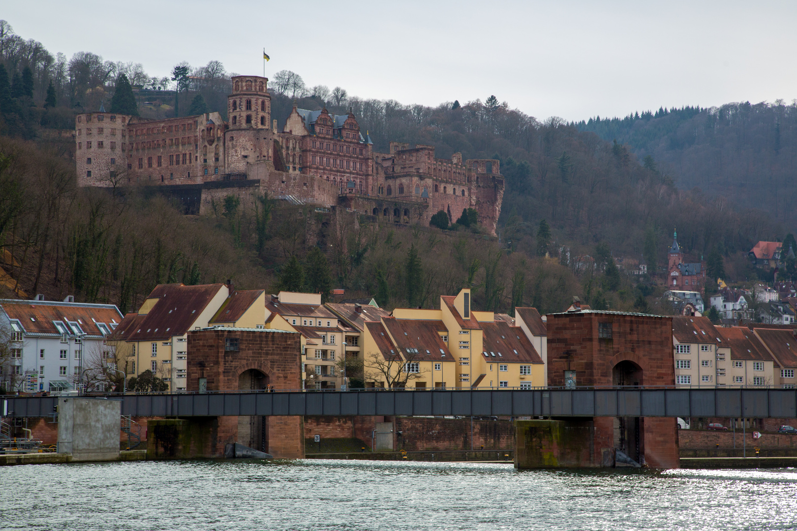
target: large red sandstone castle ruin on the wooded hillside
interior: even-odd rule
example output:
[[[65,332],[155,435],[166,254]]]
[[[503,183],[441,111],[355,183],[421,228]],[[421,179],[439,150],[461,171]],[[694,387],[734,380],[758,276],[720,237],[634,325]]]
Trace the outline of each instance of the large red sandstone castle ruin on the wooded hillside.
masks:
[[[227,121],[218,112],[163,120],[102,109],[77,115],[78,184],[171,186],[199,213],[230,193],[340,206],[399,224],[428,225],[440,210],[456,221],[472,208],[495,235],[504,195],[499,161],[435,158],[434,146],[395,142],[378,153],[351,112],[325,108],[294,106],[279,131],[268,81],[234,76]]]

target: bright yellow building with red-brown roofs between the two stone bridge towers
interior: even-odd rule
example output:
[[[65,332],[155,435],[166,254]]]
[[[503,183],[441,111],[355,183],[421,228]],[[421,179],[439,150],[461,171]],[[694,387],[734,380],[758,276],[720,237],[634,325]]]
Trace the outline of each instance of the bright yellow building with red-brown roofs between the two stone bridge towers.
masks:
[[[390,318],[366,322],[367,382],[411,388],[546,385],[544,361],[524,330],[493,312],[472,310],[470,300],[464,289],[456,297],[441,296],[439,310],[396,308]]]

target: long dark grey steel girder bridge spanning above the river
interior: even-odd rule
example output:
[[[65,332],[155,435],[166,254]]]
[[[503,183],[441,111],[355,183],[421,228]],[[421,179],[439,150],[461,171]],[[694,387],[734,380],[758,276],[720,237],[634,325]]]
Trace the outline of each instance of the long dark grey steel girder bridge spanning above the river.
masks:
[[[797,389],[538,388],[92,395],[125,416],[541,416],[797,418]],[[6,400],[6,403],[3,402]],[[57,396],[0,396],[6,416],[54,416]]]

